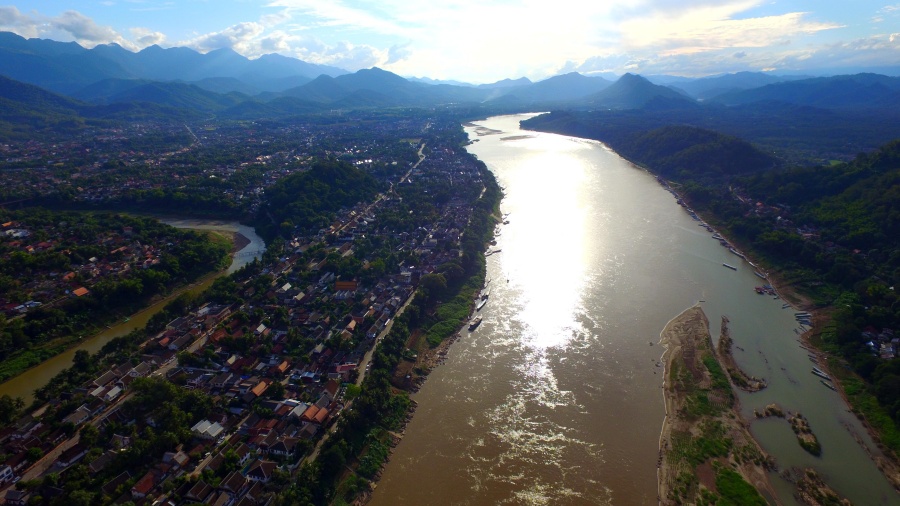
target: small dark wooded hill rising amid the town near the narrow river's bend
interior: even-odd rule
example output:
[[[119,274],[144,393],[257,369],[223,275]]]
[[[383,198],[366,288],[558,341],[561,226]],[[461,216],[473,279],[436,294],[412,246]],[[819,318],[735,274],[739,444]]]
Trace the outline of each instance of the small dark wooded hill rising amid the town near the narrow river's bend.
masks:
[[[279,233],[291,233],[294,227],[305,231],[327,227],[340,208],[369,201],[382,187],[349,163],[316,161],[309,170],[266,190],[267,204],[257,220],[257,232],[269,241]]]

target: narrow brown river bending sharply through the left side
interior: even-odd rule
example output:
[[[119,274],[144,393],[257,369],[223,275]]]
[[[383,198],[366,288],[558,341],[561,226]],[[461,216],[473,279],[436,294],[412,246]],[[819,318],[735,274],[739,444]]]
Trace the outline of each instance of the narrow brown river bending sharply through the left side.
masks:
[[[11,397],[21,397],[26,405],[30,404],[34,399],[34,391],[44,386],[50,378],[58,374],[60,371],[72,365],[72,358],[78,350],[87,350],[96,353],[116,337],[121,337],[129,332],[144,327],[150,317],[161,311],[169,301],[178,297],[182,293],[188,291],[198,294],[206,290],[213,281],[224,274],[231,274],[240,269],[244,265],[250,263],[254,258],[262,256],[265,250],[265,242],[261,237],[256,235],[253,228],[242,225],[237,222],[217,221],[217,220],[201,220],[201,219],[180,219],[180,218],[163,218],[160,221],[172,225],[177,228],[190,228],[198,230],[218,230],[229,233],[240,233],[250,242],[236,252],[231,260],[231,265],[224,271],[210,274],[202,280],[178,290],[165,299],[162,299],[143,311],[132,315],[128,321],[123,321],[118,325],[114,325],[99,334],[86,338],[78,346],[56,355],[55,357],[41,362],[39,365],[28,369],[22,374],[10,378],[8,381],[0,384],[0,395],[6,394]]]

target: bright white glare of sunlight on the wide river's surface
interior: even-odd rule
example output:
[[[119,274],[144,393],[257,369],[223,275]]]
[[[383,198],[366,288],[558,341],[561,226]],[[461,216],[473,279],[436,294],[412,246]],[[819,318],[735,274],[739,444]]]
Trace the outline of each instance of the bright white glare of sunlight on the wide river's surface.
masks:
[[[591,256],[584,233],[591,203],[582,185],[590,168],[568,156],[584,149],[577,143],[552,136],[527,143],[535,154],[515,168],[504,201],[510,223],[503,228],[503,265],[521,293],[525,344],[562,347],[580,327],[575,315]]]

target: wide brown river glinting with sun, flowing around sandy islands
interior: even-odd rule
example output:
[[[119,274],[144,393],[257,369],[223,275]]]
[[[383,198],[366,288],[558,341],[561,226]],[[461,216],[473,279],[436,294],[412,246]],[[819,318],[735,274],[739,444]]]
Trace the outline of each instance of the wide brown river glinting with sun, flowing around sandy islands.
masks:
[[[520,131],[526,117],[477,122],[493,134],[466,128],[469,151],[505,189],[489,303],[414,394],[371,504],[656,504],[659,334],[698,301],[714,339],[727,315],[738,364],[769,381],[740,394],[745,415],[778,402],[822,443],[815,458],[786,422],[753,422],[780,467],[814,467],[854,504],[896,504],[851,436],[874,449],[865,431],[810,373],[794,310],[753,291],[752,266],[647,172],[597,142]]]

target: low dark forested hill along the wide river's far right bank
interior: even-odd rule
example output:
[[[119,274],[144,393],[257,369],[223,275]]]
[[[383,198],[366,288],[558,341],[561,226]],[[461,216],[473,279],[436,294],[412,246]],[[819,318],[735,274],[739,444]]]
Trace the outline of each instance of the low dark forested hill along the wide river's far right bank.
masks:
[[[591,128],[568,113],[537,116],[522,126],[602,141],[632,162],[678,181],[716,181],[779,165],[775,157],[749,142],[691,126],[649,131]]]

